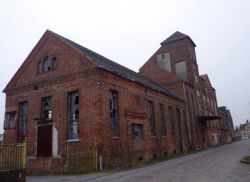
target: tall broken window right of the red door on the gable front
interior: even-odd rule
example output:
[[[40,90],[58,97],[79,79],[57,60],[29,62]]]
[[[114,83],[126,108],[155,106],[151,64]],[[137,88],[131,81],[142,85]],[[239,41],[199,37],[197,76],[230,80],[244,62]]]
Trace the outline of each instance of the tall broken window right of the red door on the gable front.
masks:
[[[79,139],[79,92],[69,93],[69,139]]]

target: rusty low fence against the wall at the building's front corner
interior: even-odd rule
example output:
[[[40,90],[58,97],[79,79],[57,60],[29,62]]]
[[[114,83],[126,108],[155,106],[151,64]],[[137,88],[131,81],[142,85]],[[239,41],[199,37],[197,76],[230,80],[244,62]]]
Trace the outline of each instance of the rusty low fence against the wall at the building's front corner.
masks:
[[[72,172],[97,170],[97,143],[67,144],[68,170]]]

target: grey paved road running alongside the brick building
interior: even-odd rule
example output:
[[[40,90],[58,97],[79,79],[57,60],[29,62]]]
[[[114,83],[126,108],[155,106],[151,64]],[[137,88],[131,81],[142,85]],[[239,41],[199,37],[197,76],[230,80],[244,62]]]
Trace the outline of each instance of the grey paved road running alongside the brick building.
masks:
[[[151,166],[117,173],[30,176],[28,182],[250,182],[250,165],[239,160],[250,155],[250,140],[211,148]]]

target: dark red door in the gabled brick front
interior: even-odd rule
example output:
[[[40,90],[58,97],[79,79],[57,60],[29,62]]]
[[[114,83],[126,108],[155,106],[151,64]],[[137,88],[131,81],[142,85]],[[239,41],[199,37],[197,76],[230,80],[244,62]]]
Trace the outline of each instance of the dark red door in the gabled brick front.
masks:
[[[48,157],[52,153],[52,125],[37,127],[37,156]]]

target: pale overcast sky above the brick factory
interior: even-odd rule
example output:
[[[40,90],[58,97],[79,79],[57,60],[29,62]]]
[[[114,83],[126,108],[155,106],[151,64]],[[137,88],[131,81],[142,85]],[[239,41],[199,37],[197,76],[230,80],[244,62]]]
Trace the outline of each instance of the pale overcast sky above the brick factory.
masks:
[[[0,89],[47,29],[134,71],[178,30],[239,125],[250,117],[249,17],[249,0],[1,0]],[[0,133],[4,112],[0,93]]]

